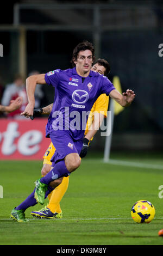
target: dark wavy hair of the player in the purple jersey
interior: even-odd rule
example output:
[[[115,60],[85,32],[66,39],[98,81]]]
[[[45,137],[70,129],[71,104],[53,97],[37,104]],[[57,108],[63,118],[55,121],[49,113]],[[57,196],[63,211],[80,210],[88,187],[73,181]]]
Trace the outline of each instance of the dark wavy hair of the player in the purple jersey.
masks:
[[[92,52],[92,60],[93,61],[95,60],[95,48],[93,47],[92,43],[89,41],[83,41],[83,42],[80,42],[73,50],[72,59],[71,59],[71,63],[73,67],[75,66],[74,61],[77,60],[78,58],[78,53],[80,51],[85,51],[85,50],[90,50]]]

